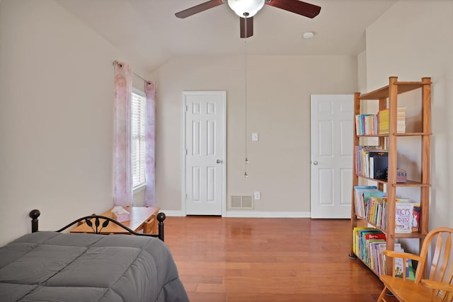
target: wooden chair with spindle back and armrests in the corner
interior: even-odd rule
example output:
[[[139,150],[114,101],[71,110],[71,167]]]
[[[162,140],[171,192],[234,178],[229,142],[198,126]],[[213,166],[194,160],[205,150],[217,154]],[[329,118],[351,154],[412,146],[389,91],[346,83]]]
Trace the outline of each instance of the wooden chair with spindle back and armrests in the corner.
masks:
[[[393,263],[393,274],[380,276],[384,289],[377,301],[452,302],[452,234],[453,228],[435,228],[430,231],[423,241],[420,255],[385,250],[386,260]],[[403,263],[408,259],[418,261],[414,281],[406,279],[406,274],[403,274],[403,278],[395,277],[395,258],[403,258]],[[387,295],[389,291],[394,294],[393,297]]]

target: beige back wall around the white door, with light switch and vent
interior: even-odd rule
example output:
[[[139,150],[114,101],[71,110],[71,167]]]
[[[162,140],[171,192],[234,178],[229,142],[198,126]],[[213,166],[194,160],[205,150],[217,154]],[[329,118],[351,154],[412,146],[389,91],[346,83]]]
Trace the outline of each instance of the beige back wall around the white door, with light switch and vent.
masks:
[[[226,202],[232,194],[260,191],[255,213],[309,215],[310,95],[354,93],[357,59],[247,58],[248,178],[243,62],[241,56],[180,57],[152,75],[158,102],[156,195],[164,209],[181,209],[181,92],[226,91]],[[258,142],[251,141],[251,132],[258,132]]]

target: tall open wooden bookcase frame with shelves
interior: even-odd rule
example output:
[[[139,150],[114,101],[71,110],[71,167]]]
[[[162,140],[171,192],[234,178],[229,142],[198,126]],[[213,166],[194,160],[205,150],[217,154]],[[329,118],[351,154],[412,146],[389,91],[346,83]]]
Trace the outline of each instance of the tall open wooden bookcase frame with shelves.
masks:
[[[385,245],[386,250],[395,250],[396,248],[396,240],[401,238],[414,238],[418,239],[419,245],[423,243],[423,239],[428,234],[428,221],[429,221],[429,197],[430,197],[430,138],[431,138],[431,129],[430,129],[430,101],[431,101],[431,79],[428,77],[422,78],[421,81],[398,81],[396,76],[389,77],[389,85],[379,88],[375,91],[371,91],[369,93],[355,93],[354,95],[354,115],[360,115],[361,105],[367,101],[377,101],[379,102],[379,110],[388,110],[389,112],[389,128],[388,134],[372,134],[372,135],[359,135],[357,129],[360,129],[360,133],[362,133],[362,129],[360,127],[354,127],[354,139],[353,139],[353,164],[352,170],[356,171],[356,173],[352,173],[352,204],[355,207],[351,207],[351,228],[352,228],[352,250],[350,252],[350,257],[357,257],[362,260],[362,262],[372,269],[374,274],[379,274],[375,271],[372,267],[374,265],[370,265],[369,260],[363,259],[363,255],[359,255],[360,252],[357,252],[357,240],[359,240],[360,236],[357,234],[360,233],[357,228],[371,228],[371,230],[376,229],[378,231],[382,231],[386,234],[385,241],[381,240],[381,245]],[[406,93],[408,91],[413,91],[415,89],[421,89],[421,129],[420,132],[396,132],[397,129],[397,112],[398,112],[398,95],[401,93]],[[417,100],[418,97],[413,97],[414,100]],[[409,100],[410,101],[410,100]],[[357,120],[356,120],[357,122]],[[358,124],[358,122],[357,122]],[[385,125],[385,124],[384,124]],[[366,132],[365,132],[366,133]],[[360,167],[360,163],[358,160],[361,158],[356,153],[356,148],[360,150],[364,146],[364,144],[360,144],[361,138],[377,138],[379,140],[379,146],[384,147],[386,149],[386,156],[388,156],[388,170],[387,170],[387,179],[374,179],[364,177],[362,175],[357,175],[358,173],[362,173],[362,168]],[[420,137],[421,142],[421,149],[420,149],[420,180],[407,180],[406,182],[396,182],[396,158],[397,158],[397,145],[404,144],[405,140],[398,141],[403,137]],[[368,149],[372,151],[371,149]],[[368,151],[366,150],[366,151]],[[375,150],[374,150],[375,151]],[[370,154],[372,152],[369,152]],[[369,156],[371,158],[371,155]],[[362,161],[362,159],[360,159]],[[367,167],[365,167],[365,171],[367,171]],[[371,173],[362,173],[362,174],[370,174]],[[359,179],[369,184],[374,183],[378,190],[382,192],[386,192],[386,202],[384,202],[385,207],[382,208],[386,219],[382,218],[382,221],[379,219],[377,223],[372,223],[369,221],[376,221],[376,211],[373,214],[368,212],[368,214],[364,213],[363,204],[358,205],[359,203],[356,202],[356,194],[355,187],[359,185]],[[396,189],[398,187],[407,187],[407,188],[418,188],[420,191],[420,201],[416,201],[420,203],[420,221],[418,223],[418,231],[414,231],[412,233],[396,233],[396,201],[398,197],[396,196]],[[385,189],[385,190],[384,190]],[[374,204],[377,204],[375,202]],[[382,202],[381,202],[382,204]],[[378,204],[379,205],[379,204]],[[399,205],[399,203],[398,203]],[[373,206],[371,206],[371,209]],[[398,206],[401,208],[400,206]],[[366,211],[368,209],[365,207]],[[359,211],[360,214],[357,214],[355,211]],[[379,215],[379,214],[378,214]],[[365,216],[370,216],[374,219],[367,219]],[[381,216],[378,216],[379,218]],[[382,227],[379,227],[382,226]],[[416,229],[416,228],[415,228]],[[357,231],[356,231],[357,230]],[[384,231],[385,230],[385,231]],[[356,233],[357,232],[357,233]],[[364,237],[365,238],[365,237]],[[370,247],[372,245],[369,245]],[[366,246],[364,246],[366,250]],[[369,255],[370,252],[376,253],[376,250],[368,250],[365,255]],[[374,254],[376,255],[376,254]],[[379,255],[379,254],[378,254]],[[378,256],[379,257],[379,256]],[[385,265],[385,274],[391,274],[391,263],[386,262]]]

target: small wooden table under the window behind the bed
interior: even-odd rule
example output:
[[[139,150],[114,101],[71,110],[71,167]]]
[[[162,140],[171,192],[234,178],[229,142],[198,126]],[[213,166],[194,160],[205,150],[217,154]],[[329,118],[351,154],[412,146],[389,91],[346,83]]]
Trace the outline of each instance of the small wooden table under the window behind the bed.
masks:
[[[159,213],[159,207],[123,207],[130,213],[130,221],[123,221],[122,224],[132,229],[132,231],[143,231],[143,233],[158,233],[158,223],[156,215]],[[112,208],[113,209],[113,208]],[[113,218],[112,209],[103,212],[101,216]],[[71,228],[71,233],[94,233],[86,223]],[[128,234],[124,228],[117,226],[115,223],[108,223],[108,226],[102,229],[101,234]]]

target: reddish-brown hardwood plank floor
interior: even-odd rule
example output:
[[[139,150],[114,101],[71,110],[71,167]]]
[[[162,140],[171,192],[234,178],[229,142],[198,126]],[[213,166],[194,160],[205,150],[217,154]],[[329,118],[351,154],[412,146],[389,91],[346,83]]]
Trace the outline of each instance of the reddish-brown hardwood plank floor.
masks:
[[[190,301],[377,301],[350,260],[347,219],[168,217],[165,241]]]

